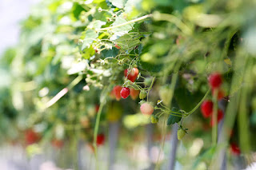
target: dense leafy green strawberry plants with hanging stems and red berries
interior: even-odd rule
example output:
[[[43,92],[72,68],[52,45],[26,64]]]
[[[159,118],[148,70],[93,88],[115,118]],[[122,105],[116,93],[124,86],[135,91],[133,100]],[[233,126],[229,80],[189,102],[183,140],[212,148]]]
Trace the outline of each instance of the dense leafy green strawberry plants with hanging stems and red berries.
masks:
[[[0,58],[0,140],[25,140],[30,153],[62,147],[74,169],[81,145],[95,169],[121,158],[132,169],[234,168],[229,149],[250,164],[254,9],[231,0],[40,2]],[[145,160],[136,157],[143,147]]]

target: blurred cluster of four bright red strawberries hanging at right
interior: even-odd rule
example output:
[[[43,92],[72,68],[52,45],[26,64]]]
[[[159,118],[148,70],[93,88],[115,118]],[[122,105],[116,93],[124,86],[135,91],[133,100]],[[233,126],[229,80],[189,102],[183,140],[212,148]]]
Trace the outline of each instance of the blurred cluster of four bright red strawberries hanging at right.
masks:
[[[215,90],[218,90],[218,100],[222,99],[224,97],[223,91],[220,89],[220,86],[222,85],[222,75],[220,73],[212,73],[209,77],[209,85],[211,88],[212,93],[214,93]],[[202,116],[205,118],[211,117],[210,119],[210,125],[214,125],[213,121],[213,110],[214,110],[214,103],[211,100],[206,100],[202,102],[201,105],[201,112]],[[221,121],[224,117],[224,113],[221,109],[218,109],[218,116],[217,121]]]

